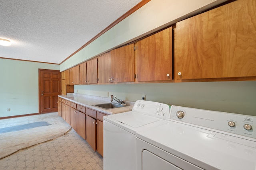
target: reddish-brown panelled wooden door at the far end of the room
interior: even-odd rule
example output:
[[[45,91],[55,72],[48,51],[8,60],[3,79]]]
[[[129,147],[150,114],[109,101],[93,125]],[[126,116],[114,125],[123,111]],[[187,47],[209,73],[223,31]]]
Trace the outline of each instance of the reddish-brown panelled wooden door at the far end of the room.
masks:
[[[60,84],[59,70],[39,69],[39,114],[58,111]]]

